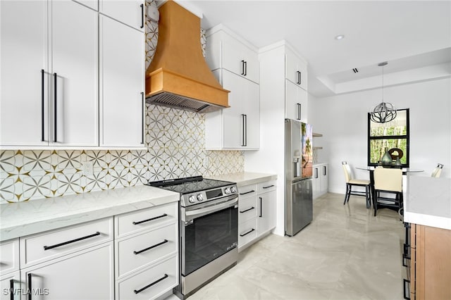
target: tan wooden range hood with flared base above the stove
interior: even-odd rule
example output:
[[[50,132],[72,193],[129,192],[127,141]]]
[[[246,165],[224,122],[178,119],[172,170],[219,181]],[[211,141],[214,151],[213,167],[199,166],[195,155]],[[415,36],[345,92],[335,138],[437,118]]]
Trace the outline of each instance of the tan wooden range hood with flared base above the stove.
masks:
[[[159,13],[159,41],[146,71],[147,103],[200,113],[228,107],[229,91],[202,55],[200,18],[171,0]]]

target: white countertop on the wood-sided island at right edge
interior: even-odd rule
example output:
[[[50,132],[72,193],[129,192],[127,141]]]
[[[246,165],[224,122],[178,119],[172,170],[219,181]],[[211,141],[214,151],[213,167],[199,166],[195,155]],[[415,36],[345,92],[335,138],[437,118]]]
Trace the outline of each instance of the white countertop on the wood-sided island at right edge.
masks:
[[[451,230],[451,178],[408,176],[404,222]]]

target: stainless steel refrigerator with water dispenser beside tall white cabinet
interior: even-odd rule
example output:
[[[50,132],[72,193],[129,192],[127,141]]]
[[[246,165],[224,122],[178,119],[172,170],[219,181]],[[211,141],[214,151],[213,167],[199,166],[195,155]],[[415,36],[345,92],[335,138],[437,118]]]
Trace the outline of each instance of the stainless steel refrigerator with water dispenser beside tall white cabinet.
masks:
[[[313,220],[313,132],[311,125],[285,119],[285,235]]]

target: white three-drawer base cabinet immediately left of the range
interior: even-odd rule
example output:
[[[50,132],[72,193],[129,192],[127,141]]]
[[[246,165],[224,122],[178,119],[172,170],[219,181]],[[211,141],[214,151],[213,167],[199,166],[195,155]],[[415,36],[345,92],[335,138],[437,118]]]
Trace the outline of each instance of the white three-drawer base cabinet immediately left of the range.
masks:
[[[116,299],[155,299],[178,285],[178,203],[117,215]]]

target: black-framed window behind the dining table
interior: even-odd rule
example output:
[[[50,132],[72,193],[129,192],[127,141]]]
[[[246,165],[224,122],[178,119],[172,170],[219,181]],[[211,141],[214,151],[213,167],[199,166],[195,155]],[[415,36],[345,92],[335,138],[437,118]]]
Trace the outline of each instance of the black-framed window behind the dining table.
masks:
[[[400,158],[402,167],[409,167],[409,108],[397,109],[395,120],[376,123],[368,113],[368,165],[380,165],[388,149],[393,163]]]

